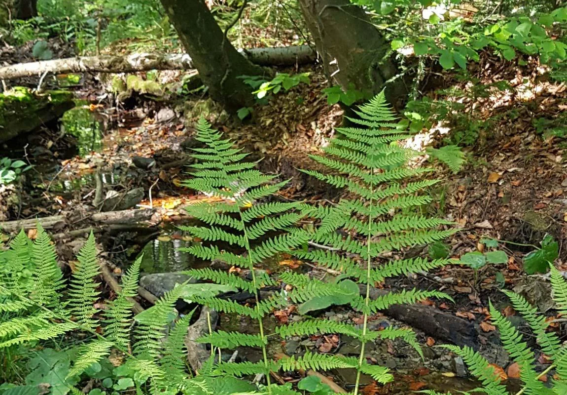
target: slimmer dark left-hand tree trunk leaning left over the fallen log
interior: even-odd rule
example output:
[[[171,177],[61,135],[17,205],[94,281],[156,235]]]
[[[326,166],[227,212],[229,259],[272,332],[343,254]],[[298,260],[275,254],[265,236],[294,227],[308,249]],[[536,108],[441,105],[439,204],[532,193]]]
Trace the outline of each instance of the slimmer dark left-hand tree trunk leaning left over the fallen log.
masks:
[[[236,51],[203,0],[161,1],[211,97],[229,112],[253,104],[251,87],[238,77],[266,70]]]

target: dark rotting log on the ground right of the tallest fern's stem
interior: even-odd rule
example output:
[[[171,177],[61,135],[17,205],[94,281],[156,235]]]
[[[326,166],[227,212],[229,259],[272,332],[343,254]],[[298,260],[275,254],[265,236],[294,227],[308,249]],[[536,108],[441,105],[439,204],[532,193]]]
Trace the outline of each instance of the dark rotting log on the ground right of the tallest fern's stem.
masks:
[[[359,285],[361,293],[366,293],[366,285]],[[370,288],[370,298],[387,295],[389,291],[384,289]],[[386,310],[386,314],[396,320],[424,331],[431,337],[451,342],[458,346],[469,346],[477,349],[479,347],[478,331],[474,323],[443,312],[434,306],[420,304],[392,305]]]

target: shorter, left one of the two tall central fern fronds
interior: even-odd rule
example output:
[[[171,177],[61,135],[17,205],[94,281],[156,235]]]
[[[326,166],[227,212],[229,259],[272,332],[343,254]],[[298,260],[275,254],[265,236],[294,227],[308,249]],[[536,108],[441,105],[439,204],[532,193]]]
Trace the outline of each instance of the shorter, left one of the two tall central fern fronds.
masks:
[[[200,339],[200,342],[209,343],[214,348],[259,347],[263,354],[263,360],[259,363],[222,363],[215,367],[215,371],[217,374],[233,376],[264,374],[268,383],[266,391],[273,393],[282,388],[270,383],[270,371],[336,367],[337,363],[330,364],[325,355],[308,353],[297,359],[275,361],[269,358],[266,350],[268,340],[263,326],[266,314],[289,302],[301,303],[318,296],[342,293],[332,284],[308,280],[299,274],[284,273],[279,280],[293,285],[293,291],[276,292],[265,300],[260,298],[260,289],[266,285],[276,285],[276,280],[266,274],[259,274],[256,267],[266,259],[276,258],[303,246],[310,237],[308,232],[295,226],[303,216],[297,211],[301,203],[270,201],[287,181],[274,182],[276,175],[266,175],[255,170],[256,162],[243,161],[247,154],[233,148],[230,140],[223,139],[221,133],[202,119],[197,124],[195,138],[203,142],[205,147],[194,149],[196,153],[193,157],[200,162],[192,165],[192,178],[184,184],[215,196],[218,201],[205,201],[187,208],[189,215],[201,220],[206,226],[182,226],[181,229],[210,245],[201,243],[188,247],[185,251],[205,260],[221,260],[248,270],[251,281],[234,273],[211,268],[189,270],[187,274],[248,291],[252,293],[255,304],[253,307],[243,306],[217,297],[196,296],[193,300],[221,312],[252,317],[260,327],[257,335],[216,331]],[[218,243],[230,245],[231,251],[220,249]],[[348,363],[341,362],[339,365]]]

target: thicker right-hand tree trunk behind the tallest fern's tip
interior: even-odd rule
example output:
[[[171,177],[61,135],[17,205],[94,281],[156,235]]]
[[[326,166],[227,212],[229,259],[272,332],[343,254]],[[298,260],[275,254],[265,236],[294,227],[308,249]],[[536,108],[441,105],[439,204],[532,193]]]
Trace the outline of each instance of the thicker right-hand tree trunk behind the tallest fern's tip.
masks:
[[[390,43],[366,13],[349,0],[299,0],[299,5],[327,77],[332,76],[342,90],[354,87],[371,95],[386,86],[388,100],[396,104],[405,89],[400,83],[387,83],[397,74],[395,63],[386,56]]]

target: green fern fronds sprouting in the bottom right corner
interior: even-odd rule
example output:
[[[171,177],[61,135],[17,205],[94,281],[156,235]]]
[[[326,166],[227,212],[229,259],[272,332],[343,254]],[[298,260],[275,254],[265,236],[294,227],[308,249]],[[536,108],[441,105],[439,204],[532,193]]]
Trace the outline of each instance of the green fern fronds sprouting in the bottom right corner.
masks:
[[[567,282],[561,273],[551,265],[551,287],[553,300],[557,305],[560,315],[567,314]],[[469,372],[477,377],[483,384],[477,392],[484,392],[488,395],[564,395],[567,394],[567,344],[562,343],[555,332],[548,331],[550,322],[545,319],[543,314],[538,314],[538,309],[521,295],[511,291],[502,291],[510,298],[514,309],[526,320],[528,326],[535,336],[536,342],[540,346],[541,352],[547,356],[550,365],[544,371],[538,372],[535,369],[535,354],[528,347],[524,336],[512,325],[512,323],[494,308],[490,303],[490,317],[492,322],[500,331],[500,339],[504,349],[510,354],[511,360],[518,364],[519,378],[523,382],[522,389],[518,392],[510,393],[505,385],[500,384],[501,377],[494,367],[480,355],[469,347],[457,347],[445,345],[440,347],[448,348],[455,354],[461,356],[467,363]],[[547,376],[555,370],[553,379],[545,384],[540,381],[540,377]],[[547,377],[546,377],[547,378]],[[435,391],[425,392],[430,395],[441,395]],[[472,395],[464,393],[465,395]]]

